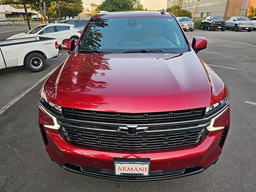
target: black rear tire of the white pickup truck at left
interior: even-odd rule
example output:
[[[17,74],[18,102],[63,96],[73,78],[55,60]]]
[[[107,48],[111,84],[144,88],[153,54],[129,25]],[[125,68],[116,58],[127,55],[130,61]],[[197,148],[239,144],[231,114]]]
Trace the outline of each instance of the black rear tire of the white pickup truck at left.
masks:
[[[29,53],[25,60],[24,64],[33,72],[39,72],[44,70],[46,61],[44,56],[39,52],[31,52]]]

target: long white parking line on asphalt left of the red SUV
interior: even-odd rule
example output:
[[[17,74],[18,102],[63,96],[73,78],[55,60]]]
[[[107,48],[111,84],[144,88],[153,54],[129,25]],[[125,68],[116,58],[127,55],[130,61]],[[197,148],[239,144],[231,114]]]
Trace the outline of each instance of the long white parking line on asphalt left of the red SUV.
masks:
[[[56,67],[57,68],[57,67]],[[33,88],[35,88],[38,84],[40,84],[42,81],[44,81],[47,77],[51,76],[52,72],[54,72],[54,70],[56,69],[54,68],[53,70],[51,70],[51,72],[49,72],[48,74],[46,74],[44,77],[42,77],[41,79],[39,79],[38,81],[36,81],[35,84],[33,84],[33,86],[29,87],[28,90],[26,90],[25,92],[21,93],[18,97],[15,97],[15,99],[11,100],[8,104],[6,104],[3,108],[0,109],[0,115],[2,115],[7,109],[9,109],[10,107],[13,106],[13,104],[15,104],[15,102],[19,101],[20,99],[22,99],[22,97],[24,97],[28,92],[30,92],[31,90],[33,90]]]

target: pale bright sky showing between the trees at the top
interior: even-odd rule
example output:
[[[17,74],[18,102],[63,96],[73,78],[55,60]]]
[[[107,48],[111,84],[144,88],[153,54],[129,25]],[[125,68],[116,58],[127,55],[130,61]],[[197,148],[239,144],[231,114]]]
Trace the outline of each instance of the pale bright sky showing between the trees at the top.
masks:
[[[100,4],[103,0],[83,0],[84,9],[92,10],[91,3]],[[147,10],[161,10],[166,9],[167,0],[140,0],[140,3]]]

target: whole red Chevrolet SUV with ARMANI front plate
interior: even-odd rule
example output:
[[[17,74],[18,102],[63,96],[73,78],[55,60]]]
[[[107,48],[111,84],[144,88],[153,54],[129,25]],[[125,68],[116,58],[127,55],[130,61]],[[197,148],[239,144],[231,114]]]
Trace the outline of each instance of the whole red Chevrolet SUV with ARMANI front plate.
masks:
[[[230,127],[228,90],[166,12],[99,13],[40,92],[47,153],[66,170],[156,180],[216,163]]]

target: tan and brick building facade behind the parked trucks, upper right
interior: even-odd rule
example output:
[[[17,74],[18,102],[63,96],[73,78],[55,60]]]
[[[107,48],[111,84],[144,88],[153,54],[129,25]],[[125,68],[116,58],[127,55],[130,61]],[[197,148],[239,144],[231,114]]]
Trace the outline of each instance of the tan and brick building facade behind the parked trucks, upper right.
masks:
[[[167,5],[173,5],[173,3],[191,12],[195,18],[210,15],[248,16],[250,15],[250,6],[256,7],[256,0],[168,0]]]

